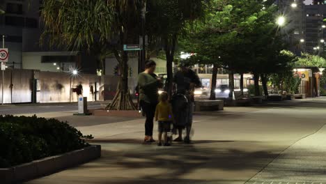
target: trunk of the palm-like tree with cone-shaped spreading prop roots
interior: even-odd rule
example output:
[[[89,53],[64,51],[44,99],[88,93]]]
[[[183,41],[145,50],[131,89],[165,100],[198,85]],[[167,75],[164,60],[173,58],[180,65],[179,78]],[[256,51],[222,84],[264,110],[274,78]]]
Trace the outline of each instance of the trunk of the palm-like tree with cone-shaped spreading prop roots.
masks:
[[[119,68],[122,72],[118,82],[118,89],[111,104],[107,106],[107,110],[137,110],[137,107],[132,102],[132,97],[128,89],[128,53],[121,52],[122,56],[118,57]],[[117,56],[117,55],[116,55]]]

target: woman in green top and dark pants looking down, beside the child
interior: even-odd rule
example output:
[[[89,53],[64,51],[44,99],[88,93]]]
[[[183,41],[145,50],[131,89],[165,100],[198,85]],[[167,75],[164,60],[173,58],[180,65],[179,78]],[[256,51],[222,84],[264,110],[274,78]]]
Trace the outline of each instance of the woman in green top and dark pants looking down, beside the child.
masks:
[[[145,71],[139,73],[139,105],[146,116],[145,121],[145,142],[153,142],[153,124],[155,108],[158,103],[158,89],[162,86],[162,79],[155,75],[155,61],[146,61]]]

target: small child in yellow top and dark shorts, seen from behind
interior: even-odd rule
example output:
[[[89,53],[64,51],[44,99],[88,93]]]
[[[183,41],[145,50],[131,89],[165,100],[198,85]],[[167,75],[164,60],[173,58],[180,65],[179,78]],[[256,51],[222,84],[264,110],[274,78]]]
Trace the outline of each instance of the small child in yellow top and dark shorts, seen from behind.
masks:
[[[160,103],[157,104],[155,110],[155,121],[158,122],[158,144],[162,146],[162,134],[164,134],[164,146],[171,146],[168,141],[168,132],[171,131],[172,122],[172,107],[168,102],[169,95],[166,92],[162,92],[160,95]],[[171,140],[172,137],[169,137]]]

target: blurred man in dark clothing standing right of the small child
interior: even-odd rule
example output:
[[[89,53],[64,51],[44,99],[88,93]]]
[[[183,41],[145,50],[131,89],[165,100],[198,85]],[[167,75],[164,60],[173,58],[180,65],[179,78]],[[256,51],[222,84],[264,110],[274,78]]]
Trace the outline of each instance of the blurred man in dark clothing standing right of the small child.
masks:
[[[189,68],[189,63],[183,61],[180,63],[180,70],[173,77],[173,83],[176,85],[176,98],[172,102],[173,114],[175,114],[175,125],[179,134],[174,141],[183,141],[182,132],[186,128],[185,143],[189,143],[194,109],[194,89],[201,86],[201,81],[196,72]],[[184,109],[180,106],[183,103]]]

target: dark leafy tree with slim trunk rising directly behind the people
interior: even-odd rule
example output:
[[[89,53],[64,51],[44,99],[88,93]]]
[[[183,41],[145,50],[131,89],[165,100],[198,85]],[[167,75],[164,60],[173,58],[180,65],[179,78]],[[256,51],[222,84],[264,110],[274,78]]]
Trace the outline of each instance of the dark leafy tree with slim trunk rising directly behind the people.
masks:
[[[183,36],[191,22],[203,16],[210,0],[155,0],[148,1],[146,29],[149,38],[162,43],[166,55],[168,92],[171,93],[172,63],[175,59],[178,38]],[[155,45],[155,44],[154,44]]]

